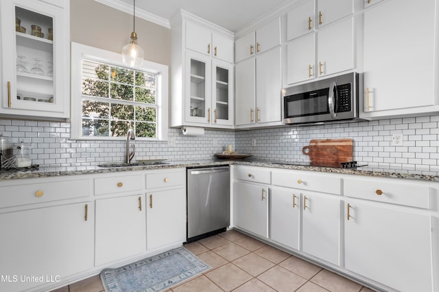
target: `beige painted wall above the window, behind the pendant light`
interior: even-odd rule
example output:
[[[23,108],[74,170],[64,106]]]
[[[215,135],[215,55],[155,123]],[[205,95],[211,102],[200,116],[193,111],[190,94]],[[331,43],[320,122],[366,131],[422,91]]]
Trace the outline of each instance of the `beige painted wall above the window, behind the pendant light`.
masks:
[[[132,15],[93,0],[70,1],[70,38],[88,46],[121,53],[130,41]],[[139,46],[145,59],[165,65],[171,63],[171,31],[136,18]]]

